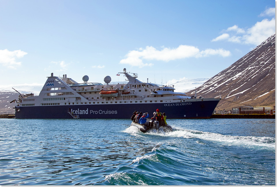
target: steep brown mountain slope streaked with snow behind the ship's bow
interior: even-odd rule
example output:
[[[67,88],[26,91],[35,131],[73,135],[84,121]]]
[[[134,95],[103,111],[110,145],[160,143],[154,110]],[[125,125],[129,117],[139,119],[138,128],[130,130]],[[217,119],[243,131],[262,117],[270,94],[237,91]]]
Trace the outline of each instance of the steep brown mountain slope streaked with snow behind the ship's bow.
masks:
[[[196,91],[198,97],[204,98],[221,95],[224,100],[218,104],[220,109],[243,104],[275,106],[275,34]],[[194,91],[187,94],[194,94]]]

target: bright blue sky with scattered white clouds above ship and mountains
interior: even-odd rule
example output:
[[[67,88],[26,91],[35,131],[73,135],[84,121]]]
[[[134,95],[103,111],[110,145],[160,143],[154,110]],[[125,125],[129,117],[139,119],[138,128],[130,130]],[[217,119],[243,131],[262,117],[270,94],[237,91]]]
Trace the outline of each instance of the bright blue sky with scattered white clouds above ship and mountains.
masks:
[[[0,0],[0,87],[211,78],[275,33],[272,0]],[[11,88],[12,89],[12,88]]]

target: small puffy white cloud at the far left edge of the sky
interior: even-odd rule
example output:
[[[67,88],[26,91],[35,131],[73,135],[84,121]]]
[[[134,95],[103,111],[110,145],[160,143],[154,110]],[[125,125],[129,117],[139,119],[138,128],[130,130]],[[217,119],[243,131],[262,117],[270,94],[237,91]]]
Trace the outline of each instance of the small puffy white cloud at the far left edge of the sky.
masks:
[[[16,58],[22,58],[27,55],[26,52],[21,50],[9,51],[8,49],[0,50],[0,64],[8,68],[16,69],[22,62],[17,62]]]

